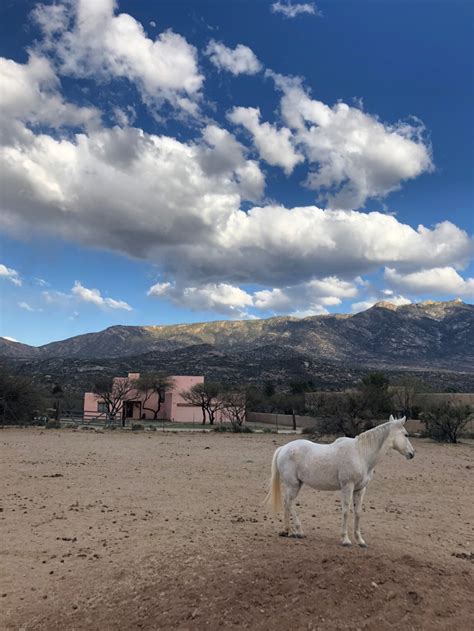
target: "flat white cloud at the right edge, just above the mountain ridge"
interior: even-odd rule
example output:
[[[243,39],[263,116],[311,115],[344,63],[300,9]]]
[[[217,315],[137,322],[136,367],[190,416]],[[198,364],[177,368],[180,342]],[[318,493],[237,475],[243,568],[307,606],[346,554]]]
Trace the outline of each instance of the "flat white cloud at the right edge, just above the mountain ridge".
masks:
[[[408,274],[385,269],[385,280],[392,286],[414,294],[456,295],[474,298],[474,278],[464,279],[453,267],[435,267]]]

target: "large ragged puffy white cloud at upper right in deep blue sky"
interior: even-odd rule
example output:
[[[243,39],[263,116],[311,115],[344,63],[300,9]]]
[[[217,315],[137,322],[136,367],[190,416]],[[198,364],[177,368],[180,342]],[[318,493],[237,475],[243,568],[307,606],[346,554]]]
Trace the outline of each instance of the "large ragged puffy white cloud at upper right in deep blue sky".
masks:
[[[293,143],[312,166],[306,184],[327,198],[331,208],[358,208],[382,198],[405,180],[433,170],[424,127],[384,124],[357,107],[329,107],[312,99],[301,80],[267,71],[283,92],[281,113],[294,130]]]

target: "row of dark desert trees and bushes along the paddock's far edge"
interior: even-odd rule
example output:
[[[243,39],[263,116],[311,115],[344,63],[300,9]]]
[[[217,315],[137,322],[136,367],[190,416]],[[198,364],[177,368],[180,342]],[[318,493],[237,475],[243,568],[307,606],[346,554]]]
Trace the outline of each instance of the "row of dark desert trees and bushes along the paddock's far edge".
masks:
[[[166,392],[174,385],[169,375],[153,372],[141,375],[138,380],[100,377],[91,389],[106,405],[109,418],[118,414],[132,390],[139,390],[142,409],[156,420]],[[180,394],[187,403],[200,408],[202,424],[214,425],[223,416],[238,429],[244,426],[249,411],[292,414],[293,418],[307,414],[318,418],[321,433],[356,436],[372,427],[376,420],[398,413],[419,418],[425,424],[426,434],[435,440],[456,442],[469,420],[470,407],[449,402],[420,407],[416,405],[416,395],[421,389],[421,382],[414,377],[391,382],[385,374],[372,372],[361,379],[357,388],[346,392],[318,392],[310,381],[291,382],[286,388],[271,382],[248,386],[206,381]],[[39,386],[26,376],[0,371],[3,425],[59,421],[72,402],[79,403],[59,383]]]

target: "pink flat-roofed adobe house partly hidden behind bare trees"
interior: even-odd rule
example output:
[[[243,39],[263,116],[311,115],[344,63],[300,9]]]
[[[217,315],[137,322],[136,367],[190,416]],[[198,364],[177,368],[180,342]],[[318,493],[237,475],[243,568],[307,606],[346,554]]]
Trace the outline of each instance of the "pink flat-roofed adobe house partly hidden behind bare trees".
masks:
[[[140,378],[140,373],[129,373],[128,377],[115,377],[114,383],[119,381],[135,381]],[[174,381],[173,388],[166,392],[165,399],[161,404],[158,413],[158,419],[166,419],[177,423],[201,423],[202,410],[198,406],[186,403],[181,396],[181,392],[189,390],[197,383],[204,383],[202,376],[172,376]],[[151,410],[145,410],[144,406],[156,409],[158,395],[153,394],[146,403],[144,403],[145,395],[139,390],[131,390],[127,393],[126,399],[121,402],[115,415],[116,420],[153,420],[154,414]],[[84,394],[84,418],[85,419],[107,419],[107,406],[100,396],[94,392],[86,392]],[[206,419],[209,420],[209,419]],[[216,418],[221,420],[219,414]]]

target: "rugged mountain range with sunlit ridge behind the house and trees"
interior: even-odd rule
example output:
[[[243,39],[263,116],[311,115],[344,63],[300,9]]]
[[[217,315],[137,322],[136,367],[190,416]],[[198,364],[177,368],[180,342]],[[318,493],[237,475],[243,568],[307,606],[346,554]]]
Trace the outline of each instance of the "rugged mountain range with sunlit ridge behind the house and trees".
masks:
[[[311,379],[337,387],[378,369],[417,371],[473,390],[474,305],[379,302],[353,315],[112,326],[40,347],[0,338],[0,362],[15,371],[63,375],[77,385],[103,371],[165,370],[221,381]]]

